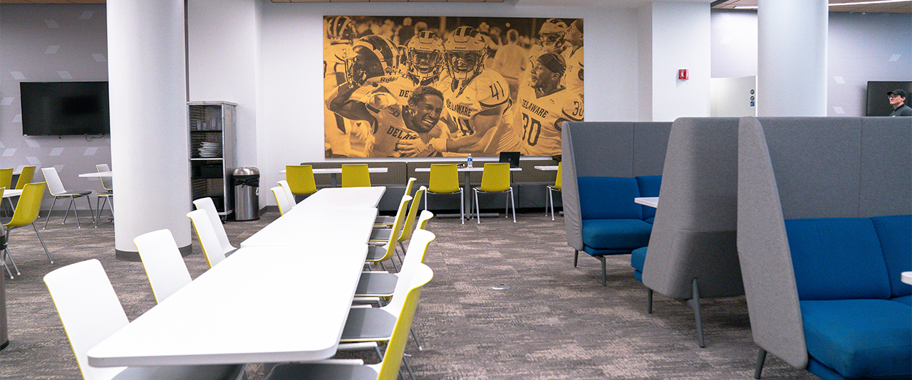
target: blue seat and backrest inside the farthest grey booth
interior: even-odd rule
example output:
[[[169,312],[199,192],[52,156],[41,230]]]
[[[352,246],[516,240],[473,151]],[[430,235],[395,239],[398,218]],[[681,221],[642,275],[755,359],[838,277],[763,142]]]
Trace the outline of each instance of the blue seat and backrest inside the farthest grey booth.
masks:
[[[634,198],[658,197],[662,176],[578,177],[582,216],[583,252],[602,262],[606,284],[605,256],[627,254],[649,244],[656,209]],[[574,266],[579,251],[574,253]]]

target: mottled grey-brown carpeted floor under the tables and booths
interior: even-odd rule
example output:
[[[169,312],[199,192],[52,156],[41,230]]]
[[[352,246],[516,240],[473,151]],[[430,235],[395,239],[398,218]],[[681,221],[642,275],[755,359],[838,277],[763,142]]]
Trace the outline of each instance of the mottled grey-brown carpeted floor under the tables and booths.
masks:
[[[235,245],[269,221],[229,222]],[[461,225],[435,219],[427,264],[434,279],[421,293],[415,320],[423,351],[407,350],[418,379],[750,379],[757,348],[742,297],[704,300],[706,348],[694,337],[693,313],[657,294],[645,312],[646,289],[634,280],[630,256],[608,258],[608,286],[596,259],[573,266],[563,220],[541,213]],[[42,220],[43,221],[43,220]],[[55,221],[57,222],[55,224]],[[140,262],[114,259],[111,223],[98,228],[57,216],[41,231],[55,259],[47,262],[35,232],[13,231],[21,276],[6,280],[10,345],[0,351],[0,379],[78,379],[76,360],[42,282],[73,262],[102,262],[130,319],[155,304]],[[88,221],[88,218],[84,221]],[[40,226],[39,226],[40,228]],[[206,269],[193,237],[185,258],[193,277]],[[496,284],[509,289],[494,290]],[[244,326],[230,334],[244,334]],[[368,360],[371,356],[367,356]],[[251,380],[268,365],[248,365]],[[768,357],[764,379],[814,375]]]

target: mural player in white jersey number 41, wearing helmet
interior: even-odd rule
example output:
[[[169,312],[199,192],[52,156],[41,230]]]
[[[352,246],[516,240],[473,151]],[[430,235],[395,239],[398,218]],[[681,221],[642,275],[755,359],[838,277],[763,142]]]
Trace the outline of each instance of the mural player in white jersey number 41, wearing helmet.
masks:
[[[472,26],[460,26],[443,43],[449,77],[441,81],[442,118],[450,138],[432,141],[432,149],[449,153],[496,156],[519,148],[510,125],[513,119],[510,87],[498,72],[484,68],[487,52],[482,36]],[[403,141],[400,149],[421,151],[420,141]]]

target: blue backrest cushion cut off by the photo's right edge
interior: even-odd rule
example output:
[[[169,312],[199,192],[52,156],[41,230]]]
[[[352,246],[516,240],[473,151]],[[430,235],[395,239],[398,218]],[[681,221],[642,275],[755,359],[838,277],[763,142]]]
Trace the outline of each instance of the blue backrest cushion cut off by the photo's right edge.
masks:
[[[902,272],[912,271],[912,215],[871,218],[884,249],[890,295],[912,295],[912,285],[902,282]]]

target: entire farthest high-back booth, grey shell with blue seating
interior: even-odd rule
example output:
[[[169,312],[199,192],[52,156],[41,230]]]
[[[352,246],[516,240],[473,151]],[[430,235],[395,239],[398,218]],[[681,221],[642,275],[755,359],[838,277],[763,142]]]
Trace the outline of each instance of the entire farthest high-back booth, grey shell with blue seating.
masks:
[[[658,197],[671,123],[565,123],[563,190],[567,244],[602,264],[649,243],[655,209],[634,202]]]

